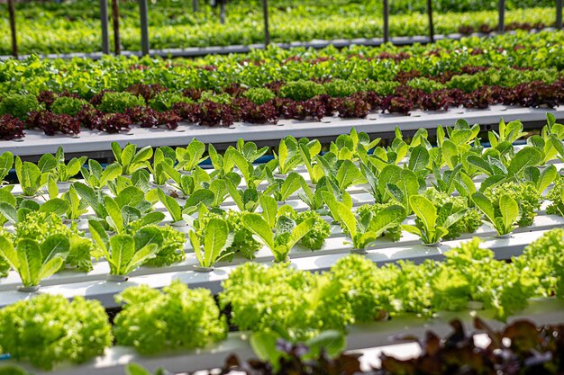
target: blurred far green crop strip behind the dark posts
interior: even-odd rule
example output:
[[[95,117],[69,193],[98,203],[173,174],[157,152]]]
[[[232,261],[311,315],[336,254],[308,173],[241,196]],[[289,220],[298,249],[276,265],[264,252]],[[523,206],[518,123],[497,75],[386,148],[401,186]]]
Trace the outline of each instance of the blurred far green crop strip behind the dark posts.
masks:
[[[22,4],[17,7],[16,23],[20,53],[92,52],[101,49],[100,22],[97,7],[72,2],[58,4]],[[264,33],[261,4],[228,4],[225,24],[219,20],[219,9],[205,2],[193,13],[191,4],[150,4],[150,42],[154,49],[248,45],[262,43]],[[297,4],[296,4],[297,3]],[[327,4],[328,3],[328,4]],[[394,2],[396,3],[396,2]],[[550,2],[548,2],[550,3]],[[496,10],[491,4],[473,5],[468,9],[450,2],[448,9],[459,13],[435,13],[438,33],[491,32],[496,30]],[[438,4],[439,5],[439,4]],[[443,4],[444,5],[444,4]],[[453,6],[456,5],[456,6]],[[548,5],[548,6],[547,6]],[[140,50],[139,9],[136,4],[121,4],[122,49]],[[398,12],[408,11],[412,4],[390,4]],[[554,4],[537,4],[530,9],[511,9],[506,13],[507,30],[542,29],[554,24]],[[541,7],[545,6],[545,7]],[[519,8],[524,5],[519,6]],[[400,10],[401,9],[401,10]],[[335,40],[382,37],[382,4],[378,1],[332,1],[322,4],[293,2],[270,6],[270,33],[275,42]],[[0,24],[0,54],[10,55],[8,13],[0,8],[6,22]],[[390,32],[395,36],[426,35],[428,22],[424,13],[405,13],[391,17]]]

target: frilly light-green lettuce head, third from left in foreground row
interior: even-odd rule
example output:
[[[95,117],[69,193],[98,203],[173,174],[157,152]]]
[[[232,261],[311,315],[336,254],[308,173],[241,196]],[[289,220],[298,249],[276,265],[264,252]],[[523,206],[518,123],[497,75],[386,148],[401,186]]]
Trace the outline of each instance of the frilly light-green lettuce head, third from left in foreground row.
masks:
[[[328,329],[343,332],[353,321],[340,282],[328,274],[299,271],[286,263],[244,263],[222,286],[220,307],[232,308],[232,323],[241,330],[299,342]]]

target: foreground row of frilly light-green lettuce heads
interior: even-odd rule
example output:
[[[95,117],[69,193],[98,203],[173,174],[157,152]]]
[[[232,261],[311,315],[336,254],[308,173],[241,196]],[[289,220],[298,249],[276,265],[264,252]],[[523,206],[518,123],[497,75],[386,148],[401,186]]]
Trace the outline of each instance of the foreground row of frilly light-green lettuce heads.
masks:
[[[511,263],[480,248],[478,238],[445,253],[443,262],[418,265],[378,267],[358,254],[319,273],[285,263],[246,263],[223,281],[219,305],[209,290],[179,281],[163,290],[128,288],[116,296],[123,309],[114,326],[96,300],[43,294],[0,310],[0,353],[50,370],[103,355],[113,342],[144,355],[202,348],[226,338],[228,321],[252,331],[251,342],[299,343],[353,324],[405,314],[433,317],[468,306],[505,320],[529,299],[564,297],[562,249],[564,231],[553,229]]]

